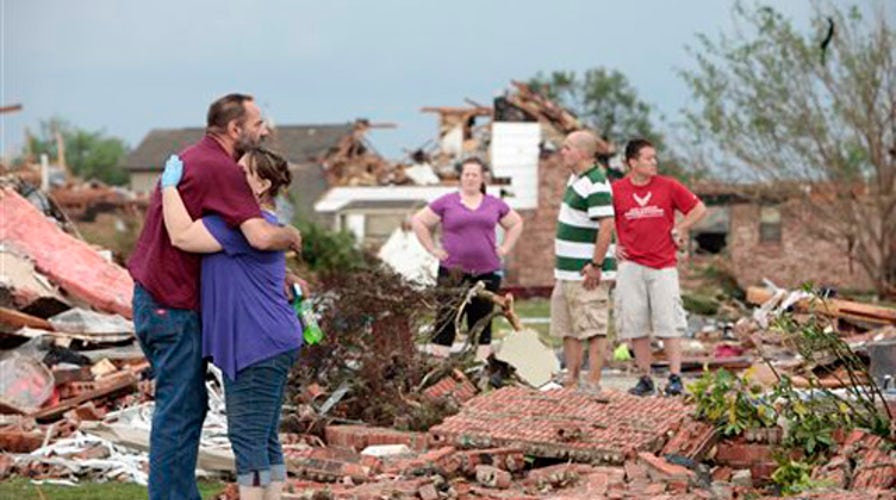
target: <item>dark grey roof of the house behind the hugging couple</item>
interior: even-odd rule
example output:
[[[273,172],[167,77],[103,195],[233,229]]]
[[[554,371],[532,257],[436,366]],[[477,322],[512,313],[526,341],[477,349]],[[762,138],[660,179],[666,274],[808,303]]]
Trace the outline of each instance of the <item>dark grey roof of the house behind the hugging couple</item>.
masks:
[[[268,138],[265,145],[289,161],[293,172],[291,192],[297,212],[314,216],[311,207],[327,189],[321,161],[345,138],[351,137],[354,130],[352,123],[280,125]],[[199,127],[150,131],[122,165],[130,173],[131,190],[138,193],[152,191],[168,156],[195,143],[204,134],[205,129]]]

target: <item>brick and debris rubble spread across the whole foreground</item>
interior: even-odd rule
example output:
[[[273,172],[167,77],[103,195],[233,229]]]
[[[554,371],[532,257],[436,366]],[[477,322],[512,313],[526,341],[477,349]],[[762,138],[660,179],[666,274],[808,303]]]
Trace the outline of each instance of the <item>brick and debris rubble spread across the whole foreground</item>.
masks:
[[[145,484],[152,389],[127,272],[13,187],[0,210],[0,480]],[[472,346],[421,352],[436,294],[475,289],[374,262],[316,281],[326,337],[290,376],[286,498],[893,497],[892,309],[749,290],[762,307],[690,339],[685,366],[710,370],[691,397],[637,398],[533,387]],[[490,299],[520,328],[512,297]],[[208,387],[199,468],[232,478],[219,373]]]

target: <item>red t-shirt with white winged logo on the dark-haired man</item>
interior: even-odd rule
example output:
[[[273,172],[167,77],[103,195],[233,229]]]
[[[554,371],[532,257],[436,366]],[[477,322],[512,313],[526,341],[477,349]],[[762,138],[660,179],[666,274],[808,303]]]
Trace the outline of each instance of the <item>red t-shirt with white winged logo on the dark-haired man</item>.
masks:
[[[677,263],[672,228],[675,211],[691,211],[700,200],[680,182],[655,175],[644,186],[632,184],[629,177],[613,186],[613,210],[616,234],[627,259],[654,269]]]

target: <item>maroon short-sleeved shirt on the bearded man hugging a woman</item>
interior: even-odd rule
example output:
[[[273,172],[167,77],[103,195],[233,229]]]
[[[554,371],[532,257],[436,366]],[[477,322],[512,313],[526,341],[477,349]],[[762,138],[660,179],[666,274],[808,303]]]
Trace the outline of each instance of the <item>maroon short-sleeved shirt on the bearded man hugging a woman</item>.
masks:
[[[177,190],[190,217],[215,213],[231,227],[261,217],[261,209],[246,176],[215,139],[205,136],[180,153],[184,175]],[[174,309],[199,310],[199,267],[202,255],[171,245],[162,218],[162,192],[156,184],[143,231],[128,271],[160,304]]]

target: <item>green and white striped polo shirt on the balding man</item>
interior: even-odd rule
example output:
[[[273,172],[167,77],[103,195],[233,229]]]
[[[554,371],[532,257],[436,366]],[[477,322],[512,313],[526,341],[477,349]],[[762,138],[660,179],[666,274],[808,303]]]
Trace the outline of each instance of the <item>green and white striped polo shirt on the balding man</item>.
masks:
[[[613,217],[613,193],[603,170],[595,165],[581,175],[570,176],[554,239],[556,279],[584,279],[581,271],[594,256],[599,220],[605,217]],[[616,279],[615,252],[615,245],[611,243],[604,256],[601,280]]]

